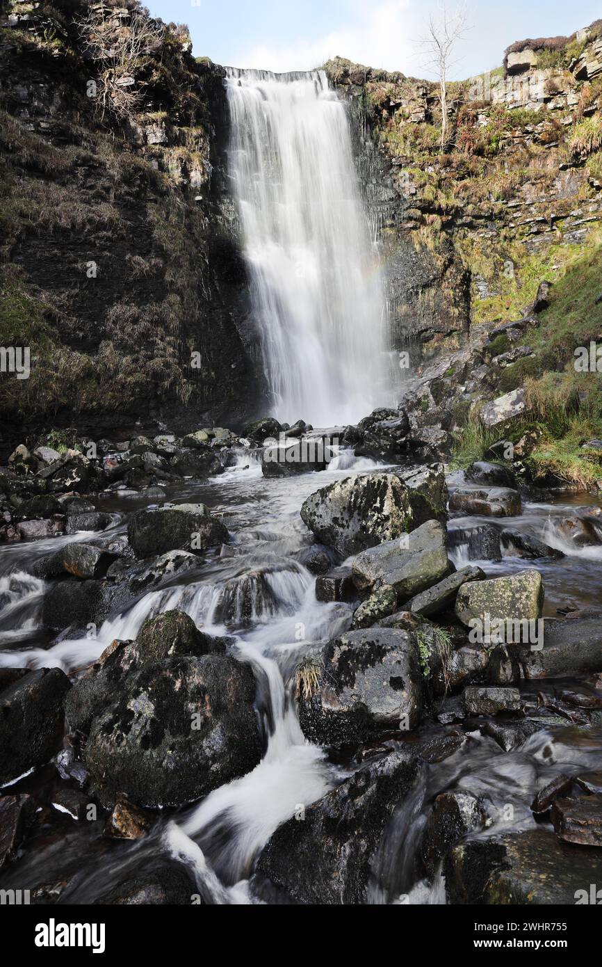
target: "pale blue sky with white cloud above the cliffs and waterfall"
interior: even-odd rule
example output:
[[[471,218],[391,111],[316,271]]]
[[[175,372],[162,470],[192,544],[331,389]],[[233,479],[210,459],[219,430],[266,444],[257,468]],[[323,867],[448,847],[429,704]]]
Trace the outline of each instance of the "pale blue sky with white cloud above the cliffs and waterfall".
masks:
[[[453,2],[453,0],[452,0]],[[309,70],[340,54],[372,67],[427,76],[416,41],[437,4],[424,0],[146,0],[151,14],[186,23],[193,52],[217,64]],[[455,78],[499,66],[526,37],[571,34],[602,15],[600,0],[469,0]]]

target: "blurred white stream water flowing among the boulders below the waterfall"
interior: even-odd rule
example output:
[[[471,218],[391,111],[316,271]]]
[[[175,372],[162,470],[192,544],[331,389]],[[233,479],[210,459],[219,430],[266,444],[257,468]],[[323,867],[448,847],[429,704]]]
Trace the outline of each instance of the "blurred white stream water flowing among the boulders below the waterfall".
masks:
[[[384,467],[344,451],[334,457],[325,473],[267,480],[258,463],[249,465],[248,456],[245,464],[242,457],[241,464],[208,484],[183,484],[168,494],[177,500],[204,501],[212,511],[223,514],[232,542],[220,554],[200,560],[198,570],[179,575],[165,587],[142,595],[125,613],[111,616],[96,636],[70,637],[68,633],[50,643],[41,628],[43,582],[30,577],[25,569],[28,562],[56,549],[62,541],[90,541],[100,535],[23,543],[3,550],[0,664],[55,664],[72,672],[96,659],[113,638],[134,637],[150,615],[179,607],[205,630],[234,635],[236,657],[250,662],[255,675],[265,743],[262,761],[251,773],[216,789],[199,804],[165,810],[154,834],[133,845],[106,844],[100,837],[101,822],[80,824],[74,832],[69,817],[57,818],[54,813],[51,831],[28,846],[5,874],[3,886],[66,879],[69,885],[60,902],[93,902],[126,874],[140,875],[153,868],[161,856],[186,865],[205,902],[262,902],[249,876],[272,832],[300,804],[316,802],[358,768],[353,761],[334,762],[323,748],[305,742],[297,718],[291,684],[297,661],[312,644],[347,630],[352,615],[348,604],[316,601],[313,575],[303,564],[313,538],[299,509],[318,486],[350,473]],[[115,495],[101,496],[99,506],[124,512],[124,502]],[[541,538],[554,530],[554,522],[567,508],[575,513],[575,505],[566,498],[528,503],[524,515],[509,523]],[[582,508],[580,513],[587,510]],[[122,532],[126,521],[127,513],[109,534]],[[458,518],[450,525],[479,522]],[[104,532],[103,539],[106,536]],[[544,576],[550,614],[567,596],[583,606],[599,600],[602,591],[602,574],[591,560],[591,549],[587,558],[582,549],[566,547],[566,551],[567,557],[560,561],[535,562]],[[461,544],[454,554],[462,564]],[[504,558],[502,566],[482,563],[492,576],[529,565],[512,557]],[[578,575],[574,579],[573,570]],[[534,825],[529,808],[534,790],[558,772],[595,768],[601,750],[602,737],[595,731],[584,736],[571,728],[540,732],[505,753],[492,739],[470,734],[450,758],[428,767],[426,776],[394,814],[375,858],[368,901],[444,902],[441,875],[433,881],[425,879],[418,862],[428,813],[441,791],[470,790],[485,796],[501,814],[504,804],[514,804],[511,822],[500,820],[479,835],[529,829]],[[10,791],[35,791],[51,802],[57,787],[56,773],[47,767],[13,783]]]

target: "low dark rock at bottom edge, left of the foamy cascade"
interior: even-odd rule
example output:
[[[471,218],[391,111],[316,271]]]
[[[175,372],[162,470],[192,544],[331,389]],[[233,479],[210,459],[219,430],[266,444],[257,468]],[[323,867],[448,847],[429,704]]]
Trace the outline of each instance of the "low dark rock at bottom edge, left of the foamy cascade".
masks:
[[[181,864],[164,863],[158,869],[129,875],[101,894],[101,906],[190,906],[198,896],[196,884]]]

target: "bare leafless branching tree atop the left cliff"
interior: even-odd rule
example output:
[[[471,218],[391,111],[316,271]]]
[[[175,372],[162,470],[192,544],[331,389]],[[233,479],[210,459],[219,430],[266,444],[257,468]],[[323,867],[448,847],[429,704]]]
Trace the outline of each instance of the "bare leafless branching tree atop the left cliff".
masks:
[[[97,104],[130,120],[143,99],[144,84],[136,73],[145,58],[160,47],[165,34],[162,23],[137,5],[132,10],[116,9],[100,0],[78,16],[75,23],[84,56],[97,65]]]

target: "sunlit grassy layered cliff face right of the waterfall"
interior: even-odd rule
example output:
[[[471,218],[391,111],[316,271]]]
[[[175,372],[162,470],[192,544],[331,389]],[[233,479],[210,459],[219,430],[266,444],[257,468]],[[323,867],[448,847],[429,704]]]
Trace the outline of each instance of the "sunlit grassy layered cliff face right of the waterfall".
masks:
[[[595,243],[602,219],[602,21],[513,44],[498,71],[435,84],[335,58],[381,240],[393,336],[433,355],[509,317]]]

